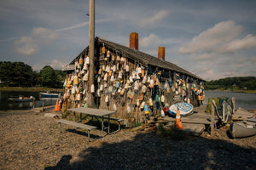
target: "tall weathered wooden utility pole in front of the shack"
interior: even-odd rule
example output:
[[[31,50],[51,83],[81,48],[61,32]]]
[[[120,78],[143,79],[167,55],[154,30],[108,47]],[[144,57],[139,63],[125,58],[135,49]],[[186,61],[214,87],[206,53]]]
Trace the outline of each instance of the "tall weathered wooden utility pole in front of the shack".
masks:
[[[90,58],[90,68],[89,68],[89,91],[92,84],[94,84],[94,49],[95,49],[95,0],[90,0],[89,2],[89,58]],[[89,107],[95,107],[95,94],[89,93],[90,98],[88,101]]]

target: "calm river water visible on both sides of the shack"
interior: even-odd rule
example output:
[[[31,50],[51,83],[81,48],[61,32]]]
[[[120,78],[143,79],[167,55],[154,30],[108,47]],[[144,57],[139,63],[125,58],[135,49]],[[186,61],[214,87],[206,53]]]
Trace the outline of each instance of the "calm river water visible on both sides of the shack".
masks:
[[[26,97],[34,96],[36,98],[36,107],[42,107],[43,101],[39,100],[38,92],[10,92],[0,91],[0,111],[7,110],[28,110],[32,109],[33,102],[9,102],[9,96],[24,95]],[[256,94],[234,93],[229,91],[206,91],[204,105],[207,105],[209,98],[214,97],[235,97],[236,108],[241,107],[248,110],[256,110]],[[55,105],[56,100],[46,100],[44,105]]]

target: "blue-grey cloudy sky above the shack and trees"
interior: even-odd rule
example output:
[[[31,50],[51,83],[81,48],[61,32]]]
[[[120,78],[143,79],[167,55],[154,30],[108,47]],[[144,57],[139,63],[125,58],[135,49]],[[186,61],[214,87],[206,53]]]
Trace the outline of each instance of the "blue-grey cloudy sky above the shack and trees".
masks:
[[[166,60],[207,81],[256,77],[256,1],[95,0],[96,37]],[[89,0],[1,0],[0,61],[61,69],[89,44]]]

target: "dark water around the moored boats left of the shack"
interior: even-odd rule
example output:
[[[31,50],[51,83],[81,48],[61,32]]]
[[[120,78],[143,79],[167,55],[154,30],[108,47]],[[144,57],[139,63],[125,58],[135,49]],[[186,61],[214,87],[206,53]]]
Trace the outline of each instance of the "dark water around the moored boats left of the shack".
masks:
[[[7,110],[30,110],[33,108],[33,102],[11,102],[8,100],[10,96],[23,95],[25,97],[33,96],[36,98],[35,107],[42,107],[43,101],[39,99],[39,92],[19,92],[19,91],[0,91],[0,111]],[[55,105],[56,99],[44,101],[44,106]]]

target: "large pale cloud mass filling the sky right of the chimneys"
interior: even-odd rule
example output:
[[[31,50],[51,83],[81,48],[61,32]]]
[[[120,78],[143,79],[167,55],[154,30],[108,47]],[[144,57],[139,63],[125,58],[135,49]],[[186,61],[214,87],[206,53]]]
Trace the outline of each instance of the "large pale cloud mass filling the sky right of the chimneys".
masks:
[[[206,80],[253,75],[256,59],[250,50],[256,48],[256,37],[242,37],[242,31],[235,21],[219,22],[184,43],[178,53],[185,54],[187,67],[194,65],[193,72]]]

